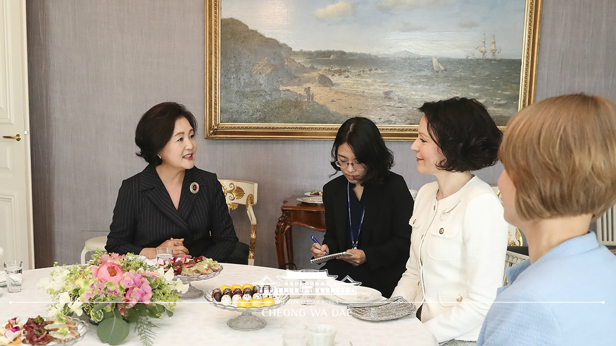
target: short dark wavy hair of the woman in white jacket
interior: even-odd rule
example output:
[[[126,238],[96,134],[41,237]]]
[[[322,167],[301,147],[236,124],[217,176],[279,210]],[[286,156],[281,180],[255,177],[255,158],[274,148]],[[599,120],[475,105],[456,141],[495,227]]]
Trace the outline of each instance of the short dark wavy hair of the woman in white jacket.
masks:
[[[428,133],[445,159],[437,167],[448,172],[477,171],[498,161],[503,139],[485,106],[466,97],[426,102],[419,107]]]

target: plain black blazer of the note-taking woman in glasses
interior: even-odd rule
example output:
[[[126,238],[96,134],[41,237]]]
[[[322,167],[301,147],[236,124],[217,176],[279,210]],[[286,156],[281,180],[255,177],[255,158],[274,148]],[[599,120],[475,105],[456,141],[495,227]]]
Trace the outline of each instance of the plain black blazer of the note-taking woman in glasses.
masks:
[[[327,228],[323,243],[329,247],[330,254],[347,249],[347,182],[341,175],[323,186]],[[383,184],[363,188],[361,201],[365,214],[359,249],[366,254],[362,266],[368,267],[371,281],[378,283],[379,291],[391,292],[406,270],[413,230],[408,224],[413,215],[413,198],[404,178],[389,172]]]

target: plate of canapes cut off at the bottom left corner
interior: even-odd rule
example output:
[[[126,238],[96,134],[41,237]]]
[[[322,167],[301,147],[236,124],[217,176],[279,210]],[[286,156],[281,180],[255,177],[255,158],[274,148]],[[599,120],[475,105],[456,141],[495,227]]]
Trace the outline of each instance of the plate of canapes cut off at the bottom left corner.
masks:
[[[0,324],[0,345],[73,345],[86,335],[84,321],[69,317],[15,317]]]

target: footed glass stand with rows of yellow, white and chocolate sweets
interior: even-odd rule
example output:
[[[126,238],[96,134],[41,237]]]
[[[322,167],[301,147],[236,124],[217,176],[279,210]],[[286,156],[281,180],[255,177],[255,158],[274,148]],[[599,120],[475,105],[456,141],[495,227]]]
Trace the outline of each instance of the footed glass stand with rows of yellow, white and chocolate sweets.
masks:
[[[205,299],[217,308],[233,312],[241,312],[240,316],[227,321],[233,329],[254,330],[265,327],[261,318],[253,312],[262,312],[282,307],[289,301],[288,294],[277,294],[269,285],[263,287],[251,284],[223,285],[206,292]]]

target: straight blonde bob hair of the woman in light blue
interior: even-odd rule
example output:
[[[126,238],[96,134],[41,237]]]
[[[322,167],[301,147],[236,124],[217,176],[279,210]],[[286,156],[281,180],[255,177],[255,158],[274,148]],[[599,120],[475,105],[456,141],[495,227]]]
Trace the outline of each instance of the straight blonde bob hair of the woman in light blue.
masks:
[[[498,153],[523,220],[592,214],[616,204],[616,103],[583,94],[519,111]]]

